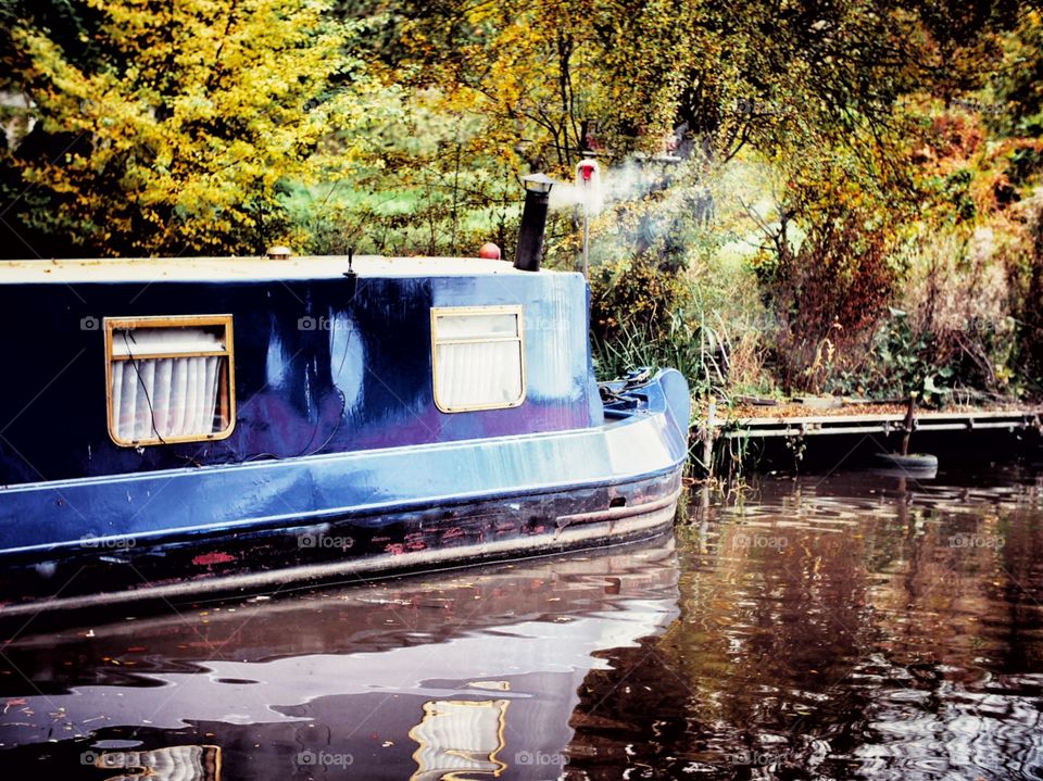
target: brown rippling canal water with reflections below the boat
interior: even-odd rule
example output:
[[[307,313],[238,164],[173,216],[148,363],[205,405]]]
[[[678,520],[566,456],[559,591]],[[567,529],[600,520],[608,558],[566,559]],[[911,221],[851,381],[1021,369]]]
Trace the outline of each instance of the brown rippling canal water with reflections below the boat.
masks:
[[[1041,603],[1043,470],[765,476],[629,549],[30,622],[0,768],[1043,779]]]

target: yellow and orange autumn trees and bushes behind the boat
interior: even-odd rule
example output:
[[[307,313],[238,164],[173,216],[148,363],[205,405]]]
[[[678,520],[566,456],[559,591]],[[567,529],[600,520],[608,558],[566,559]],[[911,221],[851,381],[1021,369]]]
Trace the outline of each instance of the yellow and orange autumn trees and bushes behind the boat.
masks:
[[[510,257],[519,177],[595,154],[601,348],[698,343],[693,387],[725,396],[1043,392],[1029,4],[3,0],[0,22],[7,255]],[[556,211],[551,262],[579,236]]]

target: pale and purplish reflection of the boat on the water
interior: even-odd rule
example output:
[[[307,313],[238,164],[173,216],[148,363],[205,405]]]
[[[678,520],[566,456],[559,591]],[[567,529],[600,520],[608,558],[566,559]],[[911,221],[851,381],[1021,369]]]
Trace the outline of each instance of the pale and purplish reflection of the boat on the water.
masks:
[[[677,571],[667,539],[20,638],[0,679],[5,767],[557,778],[585,678],[677,617]]]

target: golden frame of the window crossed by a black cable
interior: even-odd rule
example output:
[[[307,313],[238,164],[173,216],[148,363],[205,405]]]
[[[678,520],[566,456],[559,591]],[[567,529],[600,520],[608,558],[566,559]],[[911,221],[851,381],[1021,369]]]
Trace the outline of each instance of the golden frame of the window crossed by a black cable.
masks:
[[[191,328],[215,326],[225,330],[224,350],[208,350],[194,353],[142,353],[134,355],[135,360],[148,361],[168,357],[202,357],[219,355],[228,358],[226,371],[221,373],[217,380],[217,404],[221,416],[228,421],[221,431],[206,434],[189,434],[180,437],[151,437],[141,440],[124,440],[116,436],[115,415],[112,408],[112,364],[114,361],[127,361],[129,356],[114,356],[113,332],[134,328]],[[231,315],[160,315],[142,317],[105,317],[102,320],[102,330],[105,336],[105,410],[109,425],[109,438],[121,448],[141,448],[156,444],[178,444],[185,442],[214,442],[227,439],[236,429],[236,351],[233,335]]]

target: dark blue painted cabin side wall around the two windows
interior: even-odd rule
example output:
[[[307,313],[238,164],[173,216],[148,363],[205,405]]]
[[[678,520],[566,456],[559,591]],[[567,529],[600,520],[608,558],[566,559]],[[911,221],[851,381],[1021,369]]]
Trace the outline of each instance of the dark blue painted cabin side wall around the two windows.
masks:
[[[600,423],[575,275],[0,287],[0,484],[286,458],[583,428]],[[80,300],[83,299],[83,301]],[[447,415],[431,392],[430,307],[523,304],[529,394],[513,410]],[[101,330],[84,317],[235,317],[237,425],[218,442],[117,448],[105,417]],[[299,323],[318,324],[302,330]],[[550,357],[565,345],[567,361]],[[352,370],[354,369],[354,370]],[[540,388],[567,387],[554,394]],[[20,414],[20,411],[23,411]],[[0,500],[2,501],[2,500]],[[0,509],[2,517],[2,509]]]

